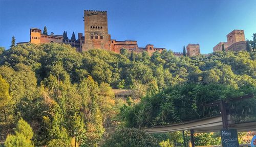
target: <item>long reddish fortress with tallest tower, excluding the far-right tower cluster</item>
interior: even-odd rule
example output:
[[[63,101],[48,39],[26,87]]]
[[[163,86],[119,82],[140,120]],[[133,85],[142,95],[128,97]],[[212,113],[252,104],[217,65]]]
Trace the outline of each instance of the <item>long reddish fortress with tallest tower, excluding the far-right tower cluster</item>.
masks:
[[[106,11],[84,10],[83,18],[84,36],[82,33],[78,33],[77,40],[64,39],[63,35],[55,35],[54,33],[51,33],[51,35],[45,35],[41,33],[40,29],[31,28],[30,42],[35,44],[50,42],[70,44],[72,47],[76,48],[77,52],[80,53],[94,48],[113,51],[115,53],[120,53],[120,50],[125,48],[129,52],[142,53],[145,51],[149,55],[152,55],[154,52],[161,53],[166,50],[163,47],[155,47],[153,44],[147,44],[145,47],[139,47],[135,40],[117,41],[115,39],[111,39],[111,35],[108,31],[108,17]],[[183,53],[174,52],[174,55],[180,57],[183,56]],[[199,44],[188,44],[187,55],[200,55]]]

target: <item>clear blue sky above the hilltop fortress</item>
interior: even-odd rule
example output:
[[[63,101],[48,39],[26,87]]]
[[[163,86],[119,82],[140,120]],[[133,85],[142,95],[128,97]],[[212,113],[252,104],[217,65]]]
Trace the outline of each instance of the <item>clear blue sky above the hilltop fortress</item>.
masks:
[[[200,43],[202,54],[212,52],[234,29],[245,37],[256,33],[255,0],[0,0],[0,46],[29,41],[29,29],[69,38],[83,30],[83,10],[108,12],[111,39],[137,40],[139,47],[154,44],[174,52],[183,45]]]

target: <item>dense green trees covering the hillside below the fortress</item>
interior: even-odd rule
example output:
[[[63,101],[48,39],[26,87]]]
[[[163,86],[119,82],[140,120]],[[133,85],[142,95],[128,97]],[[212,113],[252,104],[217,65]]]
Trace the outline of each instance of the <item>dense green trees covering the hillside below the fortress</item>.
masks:
[[[0,47],[1,140],[20,117],[32,127],[36,146],[70,146],[74,131],[86,146],[100,142],[108,120],[143,127],[209,116],[202,102],[255,93],[255,60],[255,52],[175,57],[171,51],[149,56],[124,48],[121,54],[77,53],[56,43]],[[133,98],[141,102],[123,105],[111,88],[135,89]],[[246,101],[237,111],[255,112],[242,109],[247,103],[255,106],[255,100]]]

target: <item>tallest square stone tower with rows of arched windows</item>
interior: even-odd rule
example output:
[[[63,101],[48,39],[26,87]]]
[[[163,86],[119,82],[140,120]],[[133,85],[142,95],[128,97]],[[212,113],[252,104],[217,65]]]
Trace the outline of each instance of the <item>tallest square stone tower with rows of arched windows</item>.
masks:
[[[106,11],[84,10],[84,43],[82,51],[94,48],[110,50]]]

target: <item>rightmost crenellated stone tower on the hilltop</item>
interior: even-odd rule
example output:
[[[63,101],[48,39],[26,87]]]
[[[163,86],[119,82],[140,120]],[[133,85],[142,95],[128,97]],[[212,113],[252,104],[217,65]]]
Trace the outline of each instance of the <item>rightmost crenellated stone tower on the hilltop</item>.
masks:
[[[233,30],[227,34],[227,45],[230,46],[233,43],[245,41],[244,30]]]

